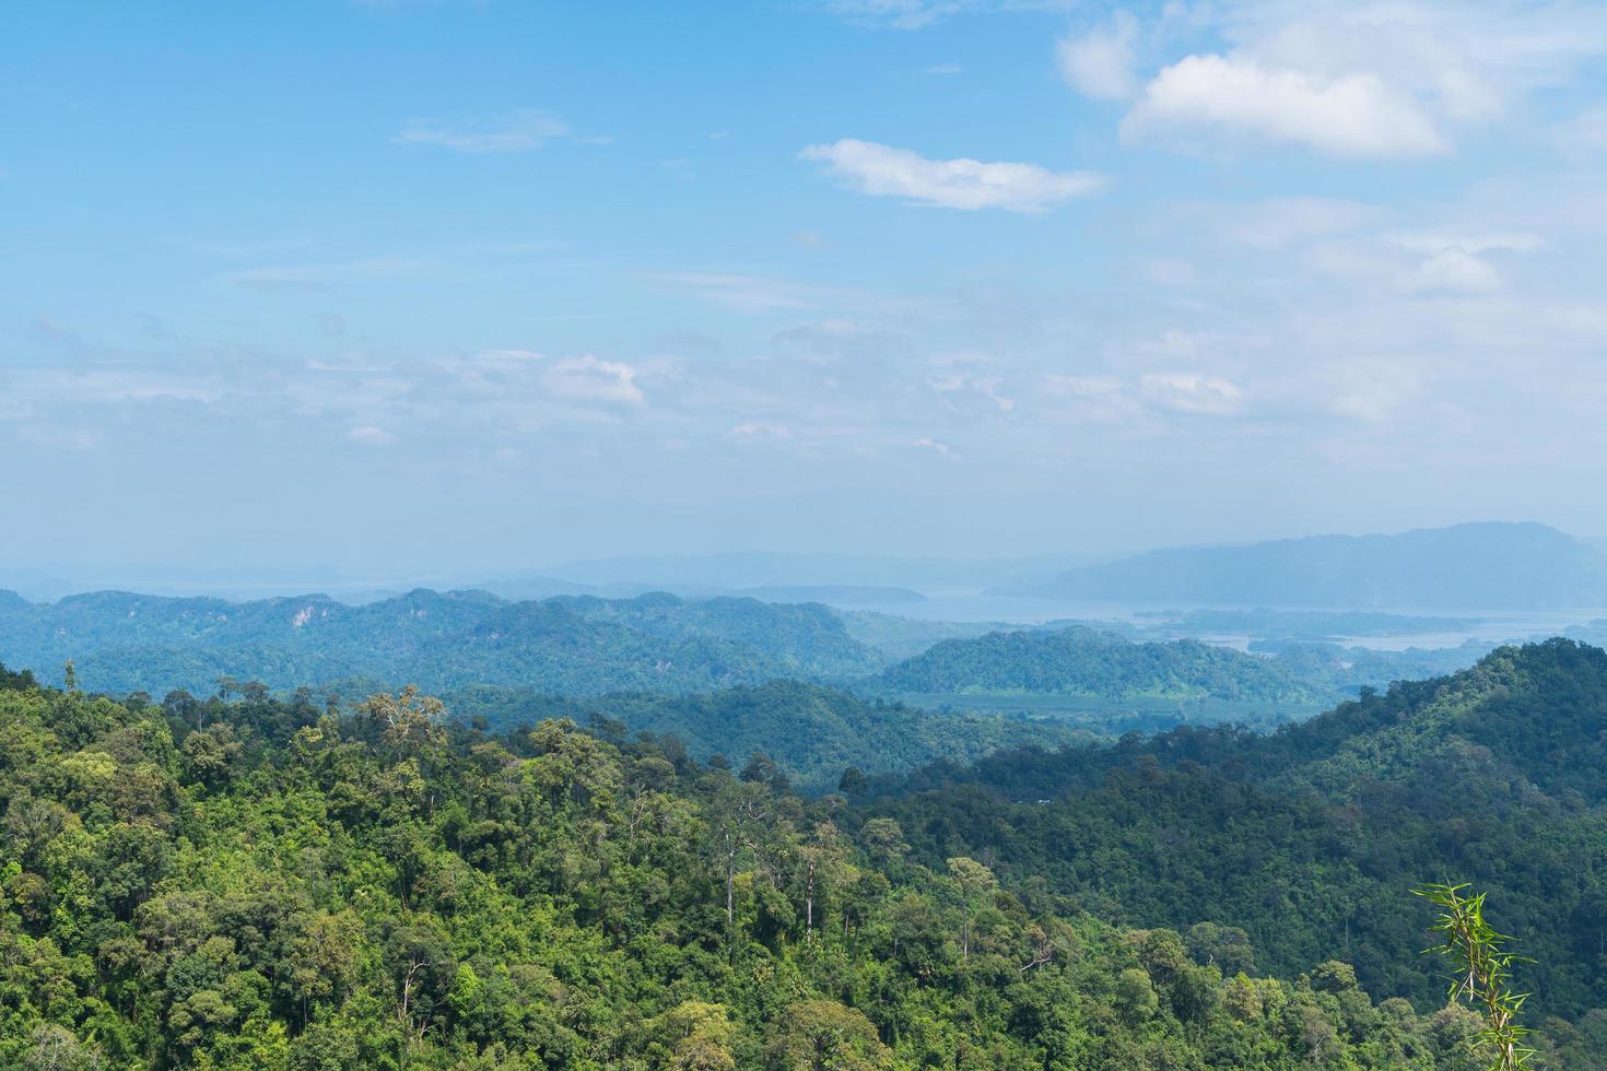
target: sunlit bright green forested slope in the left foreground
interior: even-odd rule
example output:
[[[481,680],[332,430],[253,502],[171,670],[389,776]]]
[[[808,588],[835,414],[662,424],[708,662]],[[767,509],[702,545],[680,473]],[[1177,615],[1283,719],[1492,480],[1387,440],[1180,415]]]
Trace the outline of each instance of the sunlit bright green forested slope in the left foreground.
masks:
[[[1268,978],[1233,928],[1114,928],[1019,845],[927,857],[948,811],[902,806],[562,719],[490,737],[415,692],[157,705],[5,673],[0,1065],[1482,1066],[1466,1008],[1332,957]],[[1141,829],[1112,875],[1165,849]],[[1414,960],[1429,914],[1392,910]],[[1599,1026],[1551,1024],[1551,1066],[1593,1066]]]

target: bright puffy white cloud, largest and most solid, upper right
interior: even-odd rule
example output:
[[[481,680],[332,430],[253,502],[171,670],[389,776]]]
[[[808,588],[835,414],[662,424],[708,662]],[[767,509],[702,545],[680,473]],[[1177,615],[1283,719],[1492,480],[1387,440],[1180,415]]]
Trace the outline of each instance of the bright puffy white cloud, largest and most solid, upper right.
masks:
[[[1321,79],[1253,59],[1186,56],[1144,87],[1127,136],[1213,128],[1329,156],[1432,156],[1450,143],[1411,96],[1374,74]]]

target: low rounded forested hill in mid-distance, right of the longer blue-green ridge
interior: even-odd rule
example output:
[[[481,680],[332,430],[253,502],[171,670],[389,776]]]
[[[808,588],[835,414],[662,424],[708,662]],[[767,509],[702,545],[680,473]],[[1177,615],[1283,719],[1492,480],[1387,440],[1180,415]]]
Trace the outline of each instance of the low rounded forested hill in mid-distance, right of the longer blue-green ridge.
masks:
[[[1197,641],[1131,642],[1072,626],[948,639],[885,670],[893,692],[1049,692],[1315,707],[1335,694],[1270,658]]]

